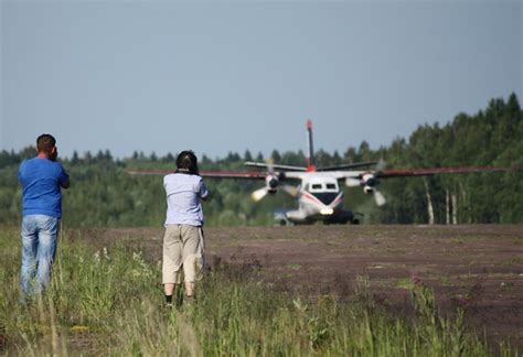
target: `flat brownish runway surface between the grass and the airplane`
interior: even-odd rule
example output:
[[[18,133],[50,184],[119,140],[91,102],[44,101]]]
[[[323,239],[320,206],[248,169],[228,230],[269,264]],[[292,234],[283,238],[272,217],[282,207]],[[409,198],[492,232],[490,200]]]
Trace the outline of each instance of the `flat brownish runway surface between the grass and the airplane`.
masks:
[[[73,232],[72,232],[73,234]],[[73,234],[76,235],[76,234]],[[163,229],[83,230],[98,248],[122,242],[161,259]],[[275,289],[314,299],[354,299],[365,285],[387,309],[408,313],[413,279],[441,312],[465,306],[489,340],[523,350],[523,226],[296,226],[206,228],[206,262],[256,271]]]

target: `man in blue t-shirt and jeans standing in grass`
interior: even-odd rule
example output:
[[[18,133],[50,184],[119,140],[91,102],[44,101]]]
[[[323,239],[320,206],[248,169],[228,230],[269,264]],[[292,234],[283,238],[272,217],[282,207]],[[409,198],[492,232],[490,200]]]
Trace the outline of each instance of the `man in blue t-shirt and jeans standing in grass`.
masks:
[[[51,134],[36,139],[38,156],[24,160],[18,172],[22,184],[22,295],[39,294],[49,284],[56,256],[56,238],[62,218],[61,188],[70,177],[56,162],[56,140]],[[33,278],[36,275],[34,284]]]

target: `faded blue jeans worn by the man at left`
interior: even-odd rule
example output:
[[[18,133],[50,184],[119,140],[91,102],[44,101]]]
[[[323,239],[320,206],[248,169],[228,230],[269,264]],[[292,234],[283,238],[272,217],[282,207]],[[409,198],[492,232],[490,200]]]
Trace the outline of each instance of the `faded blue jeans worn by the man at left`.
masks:
[[[45,215],[29,215],[22,219],[22,271],[20,290],[31,296],[49,284],[56,256],[60,219]],[[32,286],[32,280],[36,278]]]

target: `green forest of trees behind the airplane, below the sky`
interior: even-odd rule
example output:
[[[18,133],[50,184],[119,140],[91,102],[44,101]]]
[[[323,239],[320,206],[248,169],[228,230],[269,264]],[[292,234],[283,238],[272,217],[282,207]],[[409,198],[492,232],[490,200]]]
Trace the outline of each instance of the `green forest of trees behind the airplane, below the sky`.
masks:
[[[198,152],[198,148],[193,148]],[[0,224],[21,218],[19,164],[34,156],[29,144],[20,152],[0,152]],[[175,153],[158,156],[135,152],[115,159],[109,151],[77,152],[60,158],[71,176],[63,191],[63,224],[68,227],[159,227],[166,215],[162,176],[131,176],[127,170],[174,170]],[[260,153],[230,152],[222,159],[202,155],[200,170],[247,169],[245,161],[263,161]],[[279,152],[275,163],[305,165],[302,151]],[[474,115],[458,113],[448,123],[419,126],[408,139],[371,149],[366,141],[344,152],[316,153],[318,166],[380,161],[385,169],[512,165],[510,172],[442,174],[382,180],[387,204],[377,207],[360,187],[345,187],[344,206],[364,224],[479,224],[523,223],[523,111],[515,94],[491,99]],[[263,182],[205,178],[211,199],[204,203],[207,226],[273,225],[274,213],[292,208],[296,201],[284,192],[255,203],[250,193]]]

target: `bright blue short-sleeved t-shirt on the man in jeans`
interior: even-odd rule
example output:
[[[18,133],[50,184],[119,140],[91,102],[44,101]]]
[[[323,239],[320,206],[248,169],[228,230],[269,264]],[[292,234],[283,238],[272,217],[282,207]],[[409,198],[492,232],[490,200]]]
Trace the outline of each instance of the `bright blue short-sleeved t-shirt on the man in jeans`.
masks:
[[[22,184],[22,216],[62,217],[60,185],[68,181],[68,175],[61,163],[40,158],[24,160],[18,181]]]

